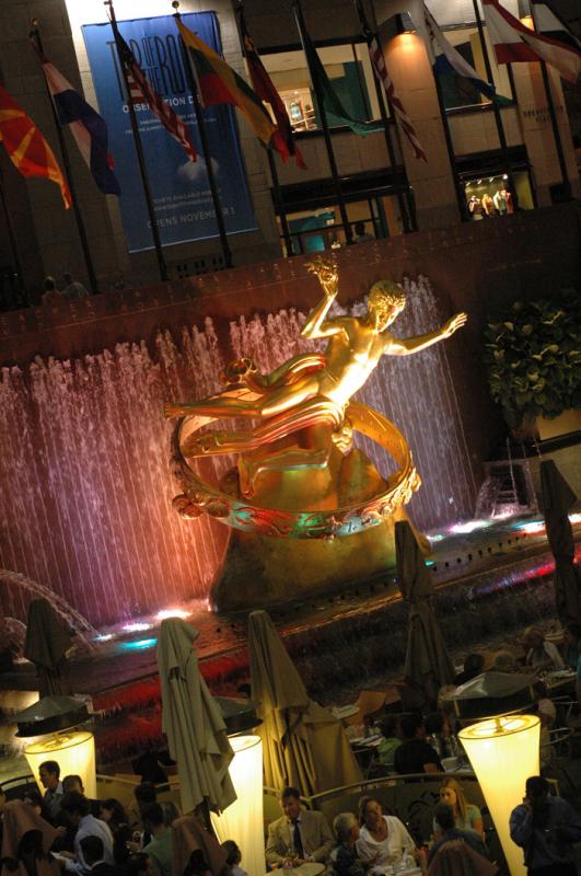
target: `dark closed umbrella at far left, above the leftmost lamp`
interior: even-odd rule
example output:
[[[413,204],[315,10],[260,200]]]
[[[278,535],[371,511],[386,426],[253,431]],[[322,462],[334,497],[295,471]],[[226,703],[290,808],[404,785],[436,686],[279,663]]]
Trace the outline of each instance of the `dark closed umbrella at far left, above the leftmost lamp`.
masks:
[[[72,633],[47,599],[33,599],[28,606],[24,656],[36,667],[40,696],[62,696],[71,692],[67,652]]]

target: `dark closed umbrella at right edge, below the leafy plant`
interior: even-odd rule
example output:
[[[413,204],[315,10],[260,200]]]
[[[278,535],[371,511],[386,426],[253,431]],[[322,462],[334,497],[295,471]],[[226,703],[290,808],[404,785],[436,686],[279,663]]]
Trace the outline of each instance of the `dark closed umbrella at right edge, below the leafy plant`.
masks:
[[[555,557],[555,602],[562,624],[581,623],[581,569],[573,563],[569,509],[577,496],[551,459],[541,463],[541,489],[547,538]]]

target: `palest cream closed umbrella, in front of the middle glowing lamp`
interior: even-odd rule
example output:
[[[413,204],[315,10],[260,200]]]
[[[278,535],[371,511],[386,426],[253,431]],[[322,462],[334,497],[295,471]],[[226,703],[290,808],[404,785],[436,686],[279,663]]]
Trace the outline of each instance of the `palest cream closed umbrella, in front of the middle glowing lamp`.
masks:
[[[177,763],[182,810],[204,804],[220,812],[236,799],[229,764],[234,757],[222,713],[198,668],[194,642],[199,633],[178,618],[162,621],[158,666],[162,729]]]

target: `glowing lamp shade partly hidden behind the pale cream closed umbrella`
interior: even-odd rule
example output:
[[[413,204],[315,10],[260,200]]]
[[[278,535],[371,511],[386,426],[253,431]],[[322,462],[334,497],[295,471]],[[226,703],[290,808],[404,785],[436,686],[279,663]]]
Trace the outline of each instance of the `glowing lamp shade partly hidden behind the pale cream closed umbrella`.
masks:
[[[234,759],[230,777],[237,799],[212,823],[220,842],[234,840],[242,852],[242,867],[249,876],[266,873],[263,821],[263,740],[259,736],[231,736]]]

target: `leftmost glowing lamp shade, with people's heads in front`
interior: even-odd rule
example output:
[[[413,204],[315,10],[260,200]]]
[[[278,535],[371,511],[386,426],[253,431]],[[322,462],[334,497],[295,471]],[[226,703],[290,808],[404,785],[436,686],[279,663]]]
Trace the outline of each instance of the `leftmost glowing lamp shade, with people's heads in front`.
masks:
[[[79,730],[47,736],[26,746],[24,754],[40,793],[44,794],[39,777],[40,763],[56,760],[61,779],[65,775],[80,775],[85,795],[93,799],[96,797],[95,737],[92,733]]]

